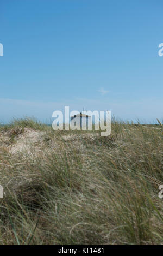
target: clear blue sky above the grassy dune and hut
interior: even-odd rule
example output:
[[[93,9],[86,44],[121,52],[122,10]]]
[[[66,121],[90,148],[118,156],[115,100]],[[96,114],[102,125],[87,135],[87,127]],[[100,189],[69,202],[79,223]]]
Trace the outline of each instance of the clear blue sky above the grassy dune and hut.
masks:
[[[163,117],[161,0],[2,0],[0,120],[54,110]]]

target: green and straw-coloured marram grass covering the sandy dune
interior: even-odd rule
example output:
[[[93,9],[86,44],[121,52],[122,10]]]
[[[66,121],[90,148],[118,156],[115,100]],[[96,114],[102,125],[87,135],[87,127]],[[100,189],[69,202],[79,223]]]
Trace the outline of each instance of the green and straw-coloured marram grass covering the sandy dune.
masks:
[[[1,148],[0,244],[162,245],[161,129],[114,122],[109,137],[70,131],[75,144],[42,126],[44,154],[22,158]]]

